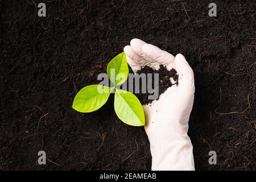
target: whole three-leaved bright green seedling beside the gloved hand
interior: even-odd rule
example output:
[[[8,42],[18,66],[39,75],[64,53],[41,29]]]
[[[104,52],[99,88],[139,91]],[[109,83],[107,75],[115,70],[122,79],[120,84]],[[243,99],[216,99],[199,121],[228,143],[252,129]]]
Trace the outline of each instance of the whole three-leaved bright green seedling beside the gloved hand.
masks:
[[[129,68],[125,53],[122,52],[112,59],[107,67],[107,73],[114,86],[89,85],[82,88],[73,101],[73,109],[81,113],[90,113],[103,106],[115,90],[114,110],[122,122],[131,126],[143,126],[145,124],[144,111],[138,98],[126,90],[117,86],[127,80]]]

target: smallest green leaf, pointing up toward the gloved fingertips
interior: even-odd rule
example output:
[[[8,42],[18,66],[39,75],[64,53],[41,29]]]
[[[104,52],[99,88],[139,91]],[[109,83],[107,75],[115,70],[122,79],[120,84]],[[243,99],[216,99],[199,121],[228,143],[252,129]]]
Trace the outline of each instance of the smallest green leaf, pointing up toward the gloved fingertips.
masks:
[[[129,68],[125,52],[119,53],[109,62],[107,73],[115,85],[121,85],[127,80]]]

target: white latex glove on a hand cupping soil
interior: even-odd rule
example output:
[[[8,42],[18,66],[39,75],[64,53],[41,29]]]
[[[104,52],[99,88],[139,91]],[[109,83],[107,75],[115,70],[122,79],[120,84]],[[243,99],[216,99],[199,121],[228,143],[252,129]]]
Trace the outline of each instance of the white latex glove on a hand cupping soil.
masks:
[[[127,62],[134,72],[144,66],[158,69],[162,64],[174,68],[179,85],[172,85],[159,100],[143,105],[150,141],[152,170],[195,170],[193,146],[188,137],[188,120],[192,110],[195,84],[191,67],[181,54],[174,57],[158,47],[133,39],[124,48]],[[150,106],[151,105],[151,106]]]

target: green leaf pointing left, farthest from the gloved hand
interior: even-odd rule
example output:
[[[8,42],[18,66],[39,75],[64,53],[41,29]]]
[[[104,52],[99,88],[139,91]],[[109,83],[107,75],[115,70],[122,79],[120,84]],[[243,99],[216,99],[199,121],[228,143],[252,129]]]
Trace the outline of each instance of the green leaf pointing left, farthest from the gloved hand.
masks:
[[[72,107],[81,113],[98,110],[108,101],[112,89],[104,85],[85,86],[76,94]]]

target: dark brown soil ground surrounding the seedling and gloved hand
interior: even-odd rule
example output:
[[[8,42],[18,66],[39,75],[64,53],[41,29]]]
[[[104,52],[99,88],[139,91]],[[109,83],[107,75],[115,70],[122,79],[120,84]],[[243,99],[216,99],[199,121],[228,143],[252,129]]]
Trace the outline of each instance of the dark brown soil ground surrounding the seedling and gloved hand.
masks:
[[[139,38],[182,53],[195,73],[196,169],[255,170],[256,2],[214,1],[210,17],[211,2],[0,1],[0,169],[150,169],[143,127],[119,121],[113,99],[88,114],[71,107]],[[40,150],[46,165],[36,164]],[[212,150],[217,165],[208,163]]]

